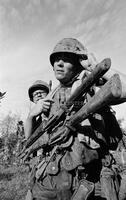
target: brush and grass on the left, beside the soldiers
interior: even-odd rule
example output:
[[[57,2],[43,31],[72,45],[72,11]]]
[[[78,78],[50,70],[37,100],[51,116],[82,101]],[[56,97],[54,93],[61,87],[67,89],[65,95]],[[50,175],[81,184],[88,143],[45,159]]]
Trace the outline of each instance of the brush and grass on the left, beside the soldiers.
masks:
[[[17,158],[24,136],[20,116],[9,113],[0,121],[0,133],[0,200],[24,200],[29,169]]]

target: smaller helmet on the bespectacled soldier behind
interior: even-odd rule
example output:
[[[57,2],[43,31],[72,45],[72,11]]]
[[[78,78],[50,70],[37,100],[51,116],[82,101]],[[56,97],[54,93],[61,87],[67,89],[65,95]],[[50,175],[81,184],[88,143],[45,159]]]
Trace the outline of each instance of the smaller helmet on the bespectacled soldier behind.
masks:
[[[31,101],[33,101],[33,92],[37,89],[46,90],[47,93],[49,93],[49,85],[41,80],[37,80],[33,83],[33,85],[28,89],[28,95]]]

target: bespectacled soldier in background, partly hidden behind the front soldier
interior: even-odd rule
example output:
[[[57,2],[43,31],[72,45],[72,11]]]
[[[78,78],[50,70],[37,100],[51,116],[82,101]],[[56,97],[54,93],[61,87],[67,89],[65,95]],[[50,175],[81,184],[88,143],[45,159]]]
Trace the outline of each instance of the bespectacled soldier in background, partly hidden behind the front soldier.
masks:
[[[42,123],[43,126],[47,122],[48,109],[50,107],[50,100],[46,100],[46,96],[50,91],[50,86],[42,80],[35,81],[28,89],[30,101],[33,103],[30,107],[28,117],[25,122],[25,139],[27,140],[32,133]],[[28,161],[28,166],[31,171],[33,165],[36,164],[41,156],[41,150],[33,153],[32,158]],[[31,173],[29,174],[31,179]],[[25,199],[30,200],[31,193],[28,190]]]

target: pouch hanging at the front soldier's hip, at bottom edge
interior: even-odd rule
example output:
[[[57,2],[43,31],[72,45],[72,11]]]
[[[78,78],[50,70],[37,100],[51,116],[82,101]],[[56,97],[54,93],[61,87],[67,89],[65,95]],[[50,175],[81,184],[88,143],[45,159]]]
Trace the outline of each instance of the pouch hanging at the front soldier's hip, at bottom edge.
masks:
[[[71,200],[88,200],[93,195],[94,183],[82,179]]]

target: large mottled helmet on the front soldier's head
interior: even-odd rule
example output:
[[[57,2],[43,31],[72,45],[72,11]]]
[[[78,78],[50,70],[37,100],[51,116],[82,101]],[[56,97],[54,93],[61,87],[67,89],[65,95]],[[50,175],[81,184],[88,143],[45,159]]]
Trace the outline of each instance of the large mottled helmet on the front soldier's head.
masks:
[[[62,52],[81,56],[85,60],[88,59],[87,49],[78,40],[74,38],[64,38],[57,43],[53,49],[52,54],[50,55],[50,63],[52,66],[55,61],[55,56]]]

